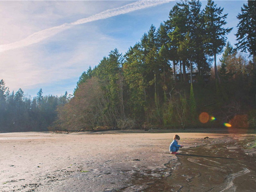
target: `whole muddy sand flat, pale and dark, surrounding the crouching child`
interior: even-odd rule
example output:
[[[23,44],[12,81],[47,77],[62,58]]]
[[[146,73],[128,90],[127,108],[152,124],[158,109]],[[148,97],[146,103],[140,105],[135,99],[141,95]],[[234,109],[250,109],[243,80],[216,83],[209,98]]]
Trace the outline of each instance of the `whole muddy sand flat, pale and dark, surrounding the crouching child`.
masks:
[[[0,133],[0,191],[256,191],[255,131],[175,131]]]

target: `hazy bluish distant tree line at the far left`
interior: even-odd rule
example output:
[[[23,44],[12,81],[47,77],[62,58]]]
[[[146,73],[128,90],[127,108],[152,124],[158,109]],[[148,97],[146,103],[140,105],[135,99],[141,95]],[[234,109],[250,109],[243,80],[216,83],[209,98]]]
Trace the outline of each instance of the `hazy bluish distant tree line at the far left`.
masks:
[[[31,99],[22,89],[10,92],[0,81],[0,132],[48,131],[56,120],[57,106],[68,102],[68,93],[63,96],[43,96],[40,89]]]

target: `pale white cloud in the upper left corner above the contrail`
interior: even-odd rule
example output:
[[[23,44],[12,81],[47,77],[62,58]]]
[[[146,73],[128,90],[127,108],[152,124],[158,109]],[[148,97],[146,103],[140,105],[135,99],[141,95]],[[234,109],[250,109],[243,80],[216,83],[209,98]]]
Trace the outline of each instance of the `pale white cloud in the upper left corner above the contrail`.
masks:
[[[106,3],[101,1],[0,1],[0,42],[10,44],[104,9]]]

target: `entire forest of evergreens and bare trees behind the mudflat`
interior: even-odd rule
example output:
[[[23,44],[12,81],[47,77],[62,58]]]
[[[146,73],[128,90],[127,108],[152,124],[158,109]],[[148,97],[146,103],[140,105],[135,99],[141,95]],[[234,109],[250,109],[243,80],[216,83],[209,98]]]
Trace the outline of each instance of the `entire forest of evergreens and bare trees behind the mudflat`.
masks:
[[[212,0],[176,3],[126,53],[84,71],[69,97],[30,99],[1,80],[0,132],[255,128],[256,1],[237,15],[236,47],[222,12]]]

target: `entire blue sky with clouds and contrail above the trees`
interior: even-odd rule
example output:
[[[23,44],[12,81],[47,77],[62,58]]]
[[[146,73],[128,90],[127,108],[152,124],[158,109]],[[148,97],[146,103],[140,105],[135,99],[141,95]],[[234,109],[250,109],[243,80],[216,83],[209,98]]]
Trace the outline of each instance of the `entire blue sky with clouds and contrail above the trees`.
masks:
[[[31,97],[40,88],[43,95],[72,94],[83,71],[115,48],[127,52],[177,2],[0,1],[0,79]],[[236,16],[247,1],[214,2],[228,13],[234,46]],[[207,1],[201,3],[203,9]]]

